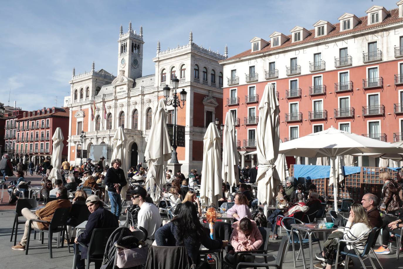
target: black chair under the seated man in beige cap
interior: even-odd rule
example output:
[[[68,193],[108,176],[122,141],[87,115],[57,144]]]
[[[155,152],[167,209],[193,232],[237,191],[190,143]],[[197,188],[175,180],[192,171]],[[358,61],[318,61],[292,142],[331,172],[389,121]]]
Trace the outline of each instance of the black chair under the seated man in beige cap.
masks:
[[[86,269],[89,269],[89,263],[92,262],[102,262],[104,259],[104,253],[106,248],[106,242],[108,242],[109,236],[113,233],[116,228],[104,228],[104,229],[93,229],[91,240],[89,244],[86,245],[84,243],[78,242],[80,246],[87,248],[87,257],[82,257],[87,260],[87,264],[85,265]],[[77,267],[77,255],[78,255],[78,246],[75,246],[74,249],[74,264],[73,268]]]

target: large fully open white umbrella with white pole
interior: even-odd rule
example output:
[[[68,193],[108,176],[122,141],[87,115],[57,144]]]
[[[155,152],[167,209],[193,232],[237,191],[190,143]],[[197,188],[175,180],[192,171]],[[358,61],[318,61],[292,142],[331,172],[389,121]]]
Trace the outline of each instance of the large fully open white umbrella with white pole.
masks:
[[[359,153],[399,153],[402,148],[360,136],[355,133],[341,131],[330,127],[327,130],[311,133],[280,145],[280,153],[315,157],[330,157],[333,163],[332,174],[336,174],[336,157],[345,154]],[[337,204],[337,181],[333,182],[334,204]],[[335,206],[337,211],[337,206]]]

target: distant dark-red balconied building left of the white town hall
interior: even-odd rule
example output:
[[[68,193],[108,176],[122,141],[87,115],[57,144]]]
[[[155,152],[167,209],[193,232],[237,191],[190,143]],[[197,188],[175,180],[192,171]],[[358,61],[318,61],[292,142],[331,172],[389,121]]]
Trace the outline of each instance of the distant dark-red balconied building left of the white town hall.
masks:
[[[19,160],[33,161],[35,165],[42,163],[45,158],[51,160],[53,141],[52,136],[57,127],[62,129],[64,147],[62,158],[67,157],[67,137],[69,135],[69,108],[42,108],[36,111],[23,112],[21,118],[13,125],[16,133],[14,155]]]

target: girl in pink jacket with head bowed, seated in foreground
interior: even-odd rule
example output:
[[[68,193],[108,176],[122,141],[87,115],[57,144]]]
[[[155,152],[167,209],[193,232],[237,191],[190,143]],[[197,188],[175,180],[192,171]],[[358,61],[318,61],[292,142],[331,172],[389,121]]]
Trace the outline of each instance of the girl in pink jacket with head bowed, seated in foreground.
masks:
[[[231,227],[233,228],[233,231],[230,237],[230,242],[235,252],[234,250],[230,250],[228,254],[226,254],[225,259],[229,263],[234,264],[236,252],[258,250],[263,244],[263,237],[256,222],[251,221],[248,218],[243,218],[240,221],[234,222]],[[253,262],[253,258],[251,260],[245,259],[244,262],[251,263]]]

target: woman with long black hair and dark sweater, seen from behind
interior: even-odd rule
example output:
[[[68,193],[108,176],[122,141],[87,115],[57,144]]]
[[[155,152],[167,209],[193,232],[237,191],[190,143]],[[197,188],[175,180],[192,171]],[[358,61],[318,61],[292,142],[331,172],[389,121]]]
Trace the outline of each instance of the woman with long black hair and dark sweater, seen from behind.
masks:
[[[195,265],[202,264],[199,248],[203,244],[208,249],[223,248],[228,241],[212,240],[205,232],[192,202],[184,202],[179,215],[155,232],[157,246],[185,246],[187,255]]]

